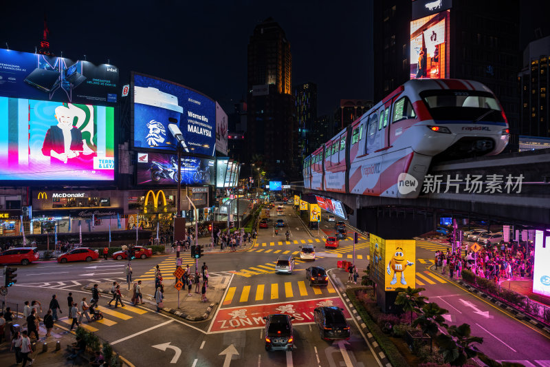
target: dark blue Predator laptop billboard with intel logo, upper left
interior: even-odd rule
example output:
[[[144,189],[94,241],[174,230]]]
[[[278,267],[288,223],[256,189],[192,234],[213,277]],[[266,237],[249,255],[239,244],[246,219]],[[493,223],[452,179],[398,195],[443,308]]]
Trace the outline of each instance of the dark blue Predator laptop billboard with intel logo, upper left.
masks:
[[[0,49],[0,96],[114,105],[118,67]]]

